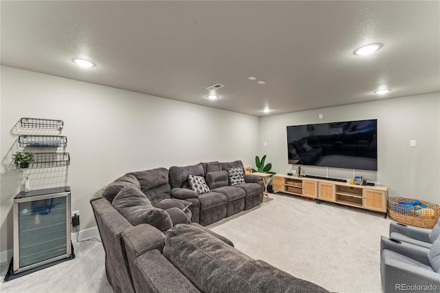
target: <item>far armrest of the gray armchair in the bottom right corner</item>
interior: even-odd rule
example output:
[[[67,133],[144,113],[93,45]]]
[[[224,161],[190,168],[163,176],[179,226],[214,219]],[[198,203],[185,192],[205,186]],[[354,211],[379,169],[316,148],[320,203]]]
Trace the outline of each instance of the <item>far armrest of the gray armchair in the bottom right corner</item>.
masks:
[[[404,255],[405,257],[409,257],[410,259],[419,261],[419,263],[423,263],[425,265],[430,266],[430,262],[428,260],[428,252],[429,252],[428,248],[424,248],[411,243],[397,241],[395,239],[389,239],[388,237],[381,236],[380,254],[382,254],[384,250],[391,250],[397,252],[398,254]]]

